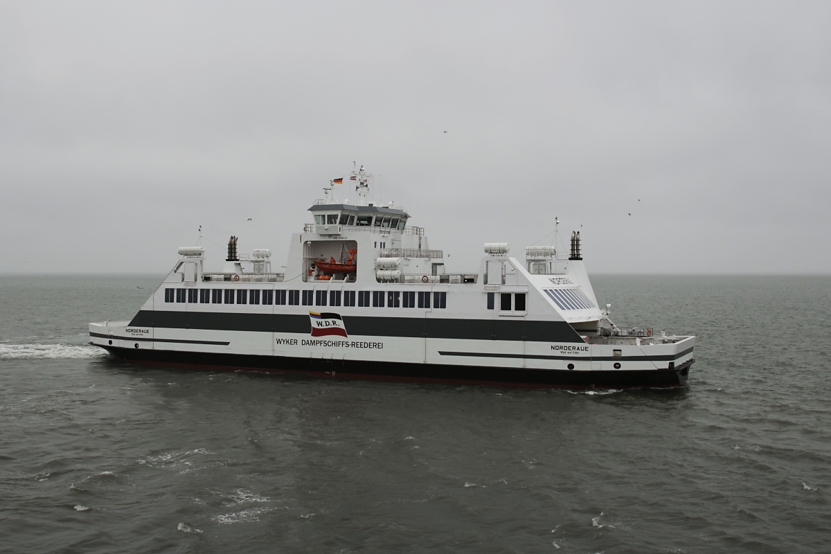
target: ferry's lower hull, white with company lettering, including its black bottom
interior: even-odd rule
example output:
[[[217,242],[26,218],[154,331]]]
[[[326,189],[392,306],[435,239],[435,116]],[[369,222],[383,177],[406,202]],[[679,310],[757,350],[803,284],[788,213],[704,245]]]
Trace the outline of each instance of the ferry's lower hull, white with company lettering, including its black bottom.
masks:
[[[348,328],[350,317],[342,317]],[[293,319],[298,327],[293,333],[134,326],[130,321],[109,321],[91,323],[90,336],[91,344],[125,360],[144,363],[330,378],[572,389],[684,385],[695,345],[692,336],[648,346],[390,334],[315,337],[310,334],[307,316],[297,314]],[[414,323],[406,321],[396,330],[395,324],[387,322],[388,332],[404,332]],[[465,326],[465,321],[454,325]],[[614,350],[619,354],[615,355]]]

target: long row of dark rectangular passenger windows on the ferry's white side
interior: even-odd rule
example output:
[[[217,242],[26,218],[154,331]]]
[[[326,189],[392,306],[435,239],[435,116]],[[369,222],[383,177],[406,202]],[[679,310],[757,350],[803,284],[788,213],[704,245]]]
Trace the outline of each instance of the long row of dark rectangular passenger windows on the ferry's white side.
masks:
[[[286,291],[231,288],[165,288],[165,302],[189,304],[276,304],[288,306],[357,306],[391,308],[447,307],[446,292],[425,291]]]

